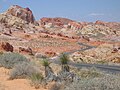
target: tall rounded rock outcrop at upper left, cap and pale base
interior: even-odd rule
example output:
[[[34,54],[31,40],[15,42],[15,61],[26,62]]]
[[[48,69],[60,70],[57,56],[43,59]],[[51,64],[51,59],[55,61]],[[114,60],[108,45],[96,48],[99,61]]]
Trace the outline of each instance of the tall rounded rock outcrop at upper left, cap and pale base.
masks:
[[[9,33],[9,31],[11,33],[14,31],[34,33],[38,26],[32,11],[18,5],[13,5],[6,12],[0,14],[0,24],[0,31],[2,29],[4,33]]]

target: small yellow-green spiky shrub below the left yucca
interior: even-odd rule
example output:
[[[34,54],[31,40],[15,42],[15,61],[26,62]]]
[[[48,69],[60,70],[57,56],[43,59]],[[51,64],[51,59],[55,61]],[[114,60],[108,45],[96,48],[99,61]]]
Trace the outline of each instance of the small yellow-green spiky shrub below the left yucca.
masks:
[[[29,79],[31,80],[31,85],[36,89],[39,88],[44,81],[44,77],[41,73],[33,73],[30,75]]]

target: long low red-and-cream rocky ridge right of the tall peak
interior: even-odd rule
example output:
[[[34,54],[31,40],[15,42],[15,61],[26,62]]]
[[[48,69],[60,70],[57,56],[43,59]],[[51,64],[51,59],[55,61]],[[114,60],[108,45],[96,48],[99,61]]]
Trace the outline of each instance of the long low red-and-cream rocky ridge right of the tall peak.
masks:
[[[95,23],[89,23],[76,22],[65,18],[42,18],[39,23],[49,33],[61,33],[62,36],[68,37],[88,36],[101,38],[108,35],[120,35],[120,23],[117,22],[96,21]]]

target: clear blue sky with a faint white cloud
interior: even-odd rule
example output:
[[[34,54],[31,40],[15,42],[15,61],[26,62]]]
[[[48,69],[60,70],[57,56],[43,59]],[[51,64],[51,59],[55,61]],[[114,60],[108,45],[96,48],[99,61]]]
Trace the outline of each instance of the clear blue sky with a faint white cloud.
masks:
[[[120,22],[120,0],[0,0],[0,13],[11,5],[29,7],[36,20],[64,17],[76,21]]]

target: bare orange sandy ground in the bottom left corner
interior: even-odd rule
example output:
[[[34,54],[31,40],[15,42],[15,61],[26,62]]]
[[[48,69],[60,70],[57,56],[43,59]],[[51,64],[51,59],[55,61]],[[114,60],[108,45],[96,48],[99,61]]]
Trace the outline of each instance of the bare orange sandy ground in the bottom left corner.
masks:
[[[0,68],[0,90],[47,90],[44,88],[35,89],[31,87],[26,79],[8,80],[9,70]]]

